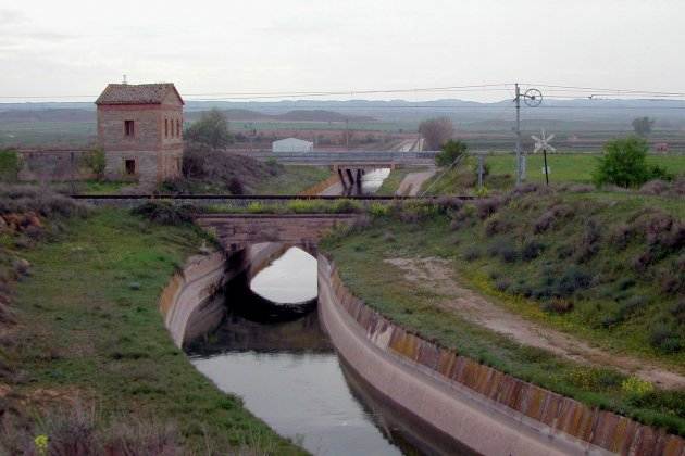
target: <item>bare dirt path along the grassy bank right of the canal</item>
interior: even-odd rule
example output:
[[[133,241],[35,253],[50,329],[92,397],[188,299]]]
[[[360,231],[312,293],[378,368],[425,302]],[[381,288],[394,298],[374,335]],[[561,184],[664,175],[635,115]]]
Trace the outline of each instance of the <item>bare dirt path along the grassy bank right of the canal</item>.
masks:
[[[446,259],[391,258],[385,262],[400,268],[407,280],[443,295],[444,300],[438,304],[444,308],[454,311],[460,317],[506,334],[524,345],[545,349],[581,363],[612,366],[661,388],[685,388],[684,376],[644,359],[590,346],[571,334],[545,328],[491,303],[483,295],[462,287]]]

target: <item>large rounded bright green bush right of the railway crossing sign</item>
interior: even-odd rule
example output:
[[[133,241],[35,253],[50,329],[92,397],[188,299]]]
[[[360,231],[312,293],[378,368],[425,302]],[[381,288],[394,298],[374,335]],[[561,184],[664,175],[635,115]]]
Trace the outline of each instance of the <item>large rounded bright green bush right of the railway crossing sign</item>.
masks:
[[[614,139],[605,144],[603,155],[593,173],[596,185],[637,187],[650,179],[669,178],[665,170],[647,164],[647,141],[637,137]]]

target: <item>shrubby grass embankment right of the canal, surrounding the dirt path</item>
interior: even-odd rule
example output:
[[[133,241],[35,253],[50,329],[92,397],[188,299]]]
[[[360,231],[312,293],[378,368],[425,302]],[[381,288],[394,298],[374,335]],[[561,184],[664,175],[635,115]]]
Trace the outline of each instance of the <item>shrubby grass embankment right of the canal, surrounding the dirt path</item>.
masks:
[[[441,257],[466,286],[610,353],[685,372],[682,200],[519,194],[375,208],[363,230],[321,248],[350,290],[424,338],[544,388],[685,435],[685,391],[523,346],[437,305],[444,296],[382,262]],[[379,265],[383,265],[379,267]]]

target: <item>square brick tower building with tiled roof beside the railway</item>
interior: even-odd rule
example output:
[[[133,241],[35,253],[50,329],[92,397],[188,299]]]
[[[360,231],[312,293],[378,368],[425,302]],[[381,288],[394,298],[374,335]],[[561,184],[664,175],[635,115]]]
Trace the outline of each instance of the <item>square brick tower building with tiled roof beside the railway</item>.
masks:
[[[184,101],[173,84],[110,84],[96,105],[108,178],[152,186],[180,176]]]

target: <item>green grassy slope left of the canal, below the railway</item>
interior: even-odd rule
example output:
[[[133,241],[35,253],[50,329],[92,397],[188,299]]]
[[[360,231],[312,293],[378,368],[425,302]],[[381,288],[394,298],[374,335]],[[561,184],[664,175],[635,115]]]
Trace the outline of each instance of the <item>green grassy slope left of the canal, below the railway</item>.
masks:
[[[47,433],[51,444],[71,439],[92,451],[121,440],[117,427],[128,426],[135,454],[158,454],[150,443],[158,441],[183,454],[300,452],[220,392],[167,334],[159,294],[201,241],[187,225],[100,210],[23,252],[32,266],[14,297],[20,330],[9,353],[22,373],[12,395],[21,416],[51,416],[29,425],[29,444]],[[95,414],[64,425],[74,402]],[[171,436],[154,434],[154,426]]]

